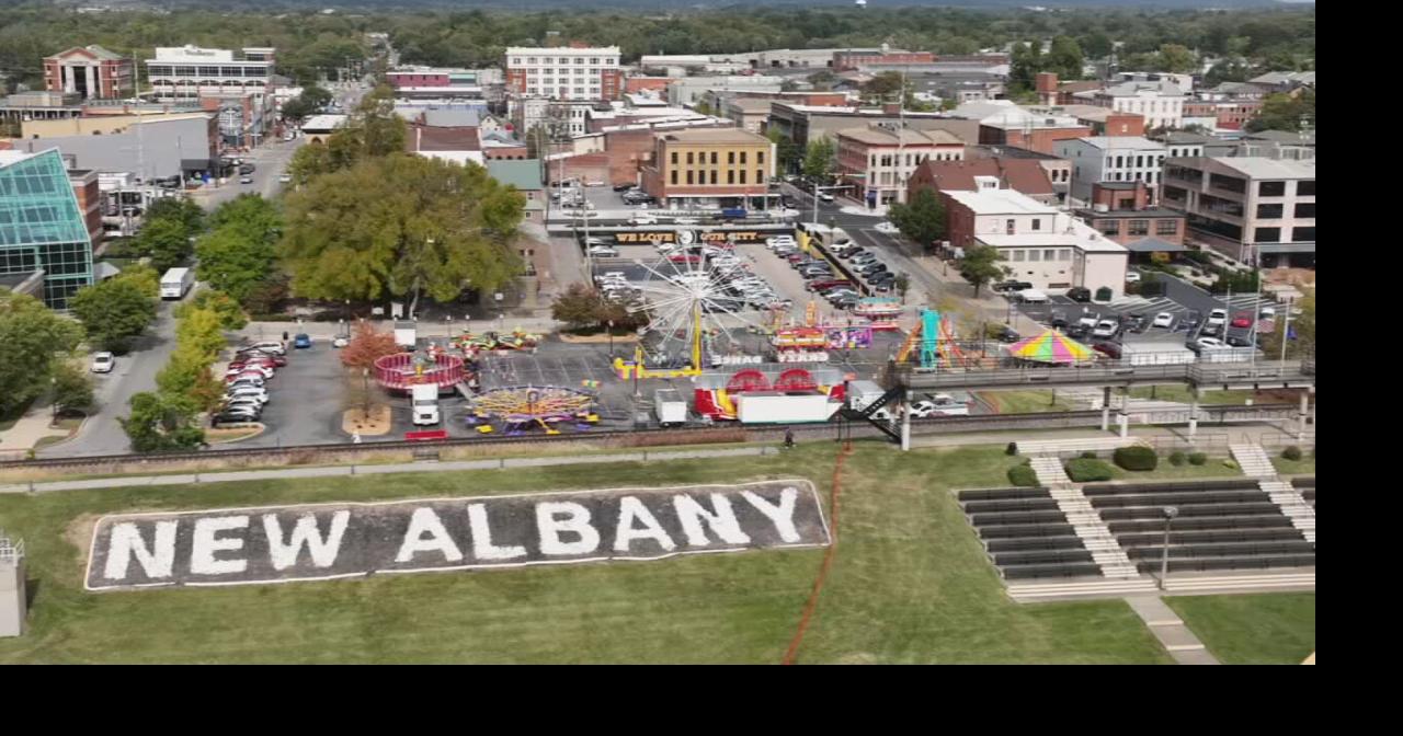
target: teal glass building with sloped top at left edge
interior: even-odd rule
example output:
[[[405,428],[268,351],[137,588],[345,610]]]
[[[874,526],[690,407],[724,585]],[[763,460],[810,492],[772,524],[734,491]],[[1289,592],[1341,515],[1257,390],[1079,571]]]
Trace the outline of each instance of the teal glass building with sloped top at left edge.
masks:
[[[56,310],[93,283],[93,243],[58,149],[0,151],[0,273],[43,269]]]

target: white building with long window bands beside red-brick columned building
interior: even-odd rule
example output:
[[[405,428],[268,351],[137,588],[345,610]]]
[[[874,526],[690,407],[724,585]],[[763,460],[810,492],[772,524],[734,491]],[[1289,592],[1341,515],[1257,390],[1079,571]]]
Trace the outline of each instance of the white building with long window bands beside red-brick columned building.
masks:
[[[246,46],[243,59],[227,49],[198,46],[157,48],[146,60],[146,77],[161,101],[201,97],[268,94],[274,70],[274,49]]]

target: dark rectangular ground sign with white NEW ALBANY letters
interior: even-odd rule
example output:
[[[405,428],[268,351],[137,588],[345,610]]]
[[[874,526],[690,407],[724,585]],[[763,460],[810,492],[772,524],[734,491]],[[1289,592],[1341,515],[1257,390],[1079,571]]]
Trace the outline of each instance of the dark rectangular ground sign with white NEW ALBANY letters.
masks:
[[[104,516],[87,589],[220,586],[382,573],[826,547],[808,481]]]

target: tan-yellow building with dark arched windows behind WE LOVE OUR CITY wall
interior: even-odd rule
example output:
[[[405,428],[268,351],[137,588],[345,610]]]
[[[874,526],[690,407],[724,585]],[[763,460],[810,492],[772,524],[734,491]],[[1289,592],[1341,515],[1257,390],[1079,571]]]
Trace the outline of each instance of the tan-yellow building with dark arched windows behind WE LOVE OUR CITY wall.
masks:
[[[658,133],[643,188],[664,205],[756,206],[769,198],[774,144],[734,128]]]

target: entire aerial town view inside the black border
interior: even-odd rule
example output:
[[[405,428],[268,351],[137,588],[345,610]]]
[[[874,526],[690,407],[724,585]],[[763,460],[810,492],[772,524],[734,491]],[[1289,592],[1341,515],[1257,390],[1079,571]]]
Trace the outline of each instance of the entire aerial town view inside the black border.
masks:
[[[1315,43],[6,3],[0,665],[1315,665]]]

